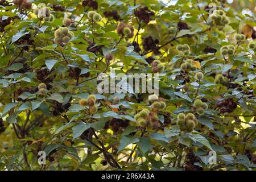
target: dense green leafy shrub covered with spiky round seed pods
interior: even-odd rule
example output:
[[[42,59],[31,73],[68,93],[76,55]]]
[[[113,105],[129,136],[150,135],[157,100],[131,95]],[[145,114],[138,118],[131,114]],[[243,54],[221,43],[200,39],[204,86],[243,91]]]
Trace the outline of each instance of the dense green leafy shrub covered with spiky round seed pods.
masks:
[[[0,7],[1,170],[255,170],[254,14],[210,0]],[[159,97],[98,93],[110,69],[161,73]]]

